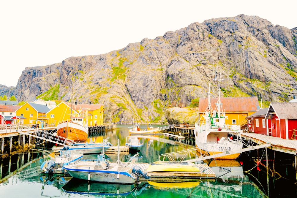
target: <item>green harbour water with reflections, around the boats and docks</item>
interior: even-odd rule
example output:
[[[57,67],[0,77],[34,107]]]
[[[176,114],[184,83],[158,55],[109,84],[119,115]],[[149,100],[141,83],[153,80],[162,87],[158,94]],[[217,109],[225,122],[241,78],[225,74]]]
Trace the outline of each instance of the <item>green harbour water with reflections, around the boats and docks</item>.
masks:
[[[117,129],[105,132],[103,136],[89,137],[94,142],[102,142],[109,137],[113,145],[120,140],[125,145],[132,125],[117,125]],[[153,125],[160,127],[162,125]],[[146,125],[141,126],[146,128]],[[138,162],[159,161],[159,155],[194,148],[193,140],[174,140],[165,136],[141,136]],[[55,145],[53,145],[55,146]],[[52,149],[52,148],[48,148]],[[174,179],[170,181],[142,181],[138,185],[118,185],[88,182],[67,175],[43,175],[41,150],[32,149],[15,154],[0,161],[1,197],[137,197],[137,198],[195,198],[195,197],[296,197],[294,177],[286,175],[289,165],[284,163],[284,173],[277,177],[266,174],[263,167],[252,163],[251,153],[242,153],[237,161],[198,161],[207,163],[217,178],[197,178],[195,180]],[[127,162],[135,151],[120,154],[122,162]],[[110,161],[116,161],[116,154],[108,154]],[[85,159],[97,159],[97,155],[86,155]],[[288,166],[288,167],[287,167]]]

